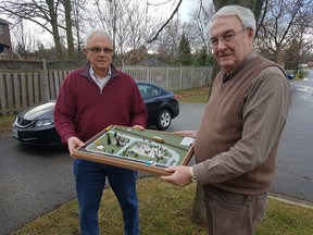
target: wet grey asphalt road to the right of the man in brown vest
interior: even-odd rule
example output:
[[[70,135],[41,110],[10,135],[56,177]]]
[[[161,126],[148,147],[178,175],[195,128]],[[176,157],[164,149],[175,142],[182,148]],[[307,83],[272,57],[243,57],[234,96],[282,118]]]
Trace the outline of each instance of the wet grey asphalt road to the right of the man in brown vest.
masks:
[[[292,104],[278,148],[271,191],[313,202],[313,70],[291,86]]]

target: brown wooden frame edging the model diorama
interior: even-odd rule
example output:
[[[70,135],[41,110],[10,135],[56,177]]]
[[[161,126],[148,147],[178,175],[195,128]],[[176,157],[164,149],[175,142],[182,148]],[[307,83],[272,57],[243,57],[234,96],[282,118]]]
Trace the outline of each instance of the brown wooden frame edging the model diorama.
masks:
[[[113,126],[118,127],[118,125],[112,125],[112,126],[107,127],[105,129],[103,129],[102,132],[97,134],[95,137],[89,139],[85,144],[85,146],[76,149],[73,152],[73,157],[77,158],[77,159],[84,159],[84,160],[88,160],[88,161],[98,162],[98,163],[104,163],[104,164],[110,164],[110,165],[114,165],[114,166],[120,166],[120,168],[130,169],[130,170],[135,170],[135,171],[146,172],[146,173],[159,175],[159,176],[160,175],[168,175],[168,173],[164,171],[164,166],[158,166],[158,165],[153,165],[153,164],[149,165],[149,164],[136,162],[133,160],[127,160],[127,159],[122,159],[122,158],[105,156],[105,154],[99,154],[97,152],[90,152],[90,151],[86,150],[87,146],[89,146],[92,141],[98,139],[101,135],[103,135],[105,132],[108,132],[109,128],[111,129]],[[121,126],[121,127],[126,127],[126,126]],[[158,133],[161,133],[159,131],[152,131],[152,129],[145,129],[142,132],[151,132],[152,135],[158,135]],[[168,133],[168,132],[162,132],[162,133],[166,134],[166,135],[177,136],[174,133]],[[181,136],[179,136],[179,137],[181,138]],[[159,143],[159,145],[162,145],[162,143]],[[189,163],[189,161],[190,161],[190,159],[195,152],[193,146],[195,146],[195,144],[192,144],[189,147],[189,149],[187,150],[187,153],[183,158],[179,165],[187,165]]]

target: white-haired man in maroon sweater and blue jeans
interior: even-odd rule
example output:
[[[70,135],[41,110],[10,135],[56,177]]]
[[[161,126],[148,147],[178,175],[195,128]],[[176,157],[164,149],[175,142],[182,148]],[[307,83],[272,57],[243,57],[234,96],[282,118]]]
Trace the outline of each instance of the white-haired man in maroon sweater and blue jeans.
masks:
[[[139,129],[147,124],[146,106],[134,78],[111,64],[111,37],[95,29],[86,36],[85,44],[89,63],[65,78],[54,110],[55,127],[71,156],[111,124]],[[75,159],[74,174],[82,234],[99,234],[98,210],[105,177],[120,202],[125,234],[139,234],[137,172]]]

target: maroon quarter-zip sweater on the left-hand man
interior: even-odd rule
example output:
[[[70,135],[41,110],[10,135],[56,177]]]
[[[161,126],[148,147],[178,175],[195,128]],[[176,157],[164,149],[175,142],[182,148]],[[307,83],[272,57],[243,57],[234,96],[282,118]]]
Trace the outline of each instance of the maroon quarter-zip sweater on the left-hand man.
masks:
[[[147,110],[134,78],[111,65],[112,75],[101,91],[89,67],[68,74],[60,89],[54,124],[62,143],[72,136],[87,141],[111,124],[146,127]]]

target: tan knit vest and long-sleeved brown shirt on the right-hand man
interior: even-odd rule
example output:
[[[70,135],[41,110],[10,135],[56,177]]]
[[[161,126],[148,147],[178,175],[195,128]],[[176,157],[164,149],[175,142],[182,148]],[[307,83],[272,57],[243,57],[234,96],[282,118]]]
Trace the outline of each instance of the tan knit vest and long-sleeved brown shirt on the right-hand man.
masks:
[[[238,194],[265,191],[290,104],[280,67],[254,51],[230,74],[221,72],[196,138],[196,180]]]

